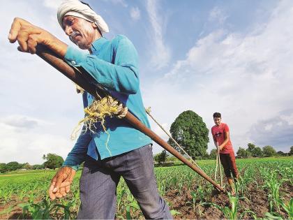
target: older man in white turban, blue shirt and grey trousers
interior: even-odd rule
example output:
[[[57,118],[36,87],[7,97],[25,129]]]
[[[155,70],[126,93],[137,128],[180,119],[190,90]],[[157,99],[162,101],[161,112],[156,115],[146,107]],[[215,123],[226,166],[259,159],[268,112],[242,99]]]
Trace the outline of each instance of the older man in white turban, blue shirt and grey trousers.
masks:
[[[43,44],[71,66],[82,68],[89,83],[105,87],[149,127],[139,86],[137,52],[128,38],[121,35],[112,41],[103,38],[103,33],[109,31],[103,18],[77,0],[61,3],[58,21],[70,41],[89,53],[66,45],[20,18],[13,21],[8,38],[11,43],[18,41],[22,52],[33,54],[36,45]],[[82,98],[84,108],[93,102],[93,96],[86,91]],[[95,126],[96,131],[86,130],[80,134],[63,167],[52,179],[50,198],[66,196],[78,166],[84,162],[78,219],[114,219],[116,189],[121,176],[146,219],[172,219],[167,203],[158,195],[151,139],[116,117],[106,119],[106,131],[101,124]]]

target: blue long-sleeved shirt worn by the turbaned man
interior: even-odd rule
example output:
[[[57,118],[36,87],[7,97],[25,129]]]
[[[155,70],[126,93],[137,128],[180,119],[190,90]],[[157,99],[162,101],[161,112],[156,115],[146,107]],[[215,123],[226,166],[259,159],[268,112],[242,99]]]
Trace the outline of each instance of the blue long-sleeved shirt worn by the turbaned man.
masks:
[[[112,97],[126,105],[129,112],[150,128],[140,92],[137,51],[126,36],[118,35],[112,41],[99,38],[92,43],[91,54],[68,47],[64,59],[71,66],[84,68],[92,77],[91,84],[105,87]],[[93,96],[87,91],[82,98],[84,108],[93,102]],[[100,123],[96,127],[95,133],[87,131],[80,134],[63,166],[77,169],[86,155],[96,160],[105,159],[152,142],[151,138],[134,129],[126,120],[117,117],[105,119],[107,133],[110,134],[108,143],[108,134]]]

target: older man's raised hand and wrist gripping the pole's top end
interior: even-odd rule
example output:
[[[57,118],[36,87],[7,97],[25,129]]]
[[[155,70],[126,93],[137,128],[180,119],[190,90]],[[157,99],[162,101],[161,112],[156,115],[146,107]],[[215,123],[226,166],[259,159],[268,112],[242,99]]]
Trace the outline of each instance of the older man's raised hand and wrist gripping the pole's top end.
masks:
[[[36,45],[43,44],[56,52],[61,58],[64,57],[67,45],[58,38],[50,34],[50,32],[36,27],[35,25],[15,17],[11,29],[8,34],[10,43],[18,42],[20,45],[17,49],[22,52],[36,53]]]

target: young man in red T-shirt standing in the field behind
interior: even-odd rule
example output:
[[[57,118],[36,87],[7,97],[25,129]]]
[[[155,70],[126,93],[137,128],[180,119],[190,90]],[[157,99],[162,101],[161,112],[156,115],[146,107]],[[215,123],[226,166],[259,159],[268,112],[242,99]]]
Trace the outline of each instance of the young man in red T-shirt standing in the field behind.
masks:
[[[232,147],[232,142],[230,140],[230,132],[227,124],[221,122],[222,118],[219,112],[213,113],[213,122],[215,126],[211,128],[211,134],[213,135],[213,142],[220,151],[220,162],[223,165],[227,181],[232,187],[232,194],[234,194],[233,189],[233,179],[238,178],[238,170],[235,163],[234,149]]]

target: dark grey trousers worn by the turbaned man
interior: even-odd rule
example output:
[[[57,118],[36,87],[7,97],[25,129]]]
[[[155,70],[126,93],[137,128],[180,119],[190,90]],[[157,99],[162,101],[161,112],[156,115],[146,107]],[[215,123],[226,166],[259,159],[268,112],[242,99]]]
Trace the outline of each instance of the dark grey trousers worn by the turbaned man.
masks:
[[[88,156],[80,177],[82,203],[77,219],[114,219],[121,176],[146,219],[172,219],[167,203],[158,194],[151,145],[102,161]]]

